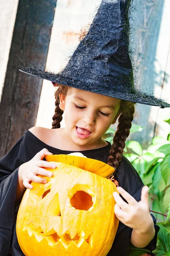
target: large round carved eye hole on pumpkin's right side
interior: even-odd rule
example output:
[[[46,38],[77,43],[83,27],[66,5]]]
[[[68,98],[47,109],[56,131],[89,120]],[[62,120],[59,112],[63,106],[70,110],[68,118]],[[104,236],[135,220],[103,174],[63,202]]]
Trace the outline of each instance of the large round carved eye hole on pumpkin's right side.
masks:
[[[93,206],[91,195],[85,191],[77,191],[70,200],[71,206],[78,210],[88,211]]]

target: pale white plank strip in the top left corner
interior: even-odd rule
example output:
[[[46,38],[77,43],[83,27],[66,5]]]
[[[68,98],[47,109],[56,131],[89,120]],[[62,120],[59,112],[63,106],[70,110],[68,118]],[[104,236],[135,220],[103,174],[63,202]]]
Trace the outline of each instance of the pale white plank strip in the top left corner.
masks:
[[[18,1],[0,1],[0,99],[6,75]]]

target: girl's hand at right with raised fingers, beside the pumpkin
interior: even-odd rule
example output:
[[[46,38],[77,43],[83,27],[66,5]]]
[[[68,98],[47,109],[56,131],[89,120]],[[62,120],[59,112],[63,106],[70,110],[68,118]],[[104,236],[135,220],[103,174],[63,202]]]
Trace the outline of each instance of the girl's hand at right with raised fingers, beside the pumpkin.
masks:
[[[140,232],[146,232],[150,223],[153,222],[149,209],[149,188],[147,186],[142,188],[141,201],[139,202],[122,187],[118,187],[117,191],[125,198],[128,204],[123,201],[117,192],[113,193],[113,197],[116,201],[114,207],[116,217],[127,227],[139,230]]]

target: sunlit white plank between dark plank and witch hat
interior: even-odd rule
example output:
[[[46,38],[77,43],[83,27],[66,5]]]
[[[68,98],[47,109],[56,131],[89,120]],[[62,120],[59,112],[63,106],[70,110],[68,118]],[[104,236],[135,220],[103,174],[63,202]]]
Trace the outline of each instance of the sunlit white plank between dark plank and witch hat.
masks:
[[[69,56],[79,44],[79,34],[91,23],[101,0],[57,0],[51,40],[48,50],[48,70],[59,72],[65,67]],[[43,81],[40,104],[37,114],[37,126],[51,128],[55,109],[54,87],[49,81]],[[62,126],[64,122],[62,121]]]

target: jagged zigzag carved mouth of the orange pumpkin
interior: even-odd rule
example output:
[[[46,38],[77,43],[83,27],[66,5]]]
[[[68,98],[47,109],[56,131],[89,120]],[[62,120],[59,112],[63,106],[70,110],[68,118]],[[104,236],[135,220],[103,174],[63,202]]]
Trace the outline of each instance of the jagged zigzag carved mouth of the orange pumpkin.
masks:
[[[35,236],[36,240],[38,242],[42,241],[42,239],[46,239],[48,241],[48,244],[51,246],[54,246],[54,244],[57,244],[58,242],[61,242],[62,245],[66,248],[71,243],[74,243],[77,245],[77,247],[80,247],[82,243],[85,241],[87,242],[91,247],[93,243],[93,234],[91,234],[88,239],[84,239],[82,235],[76,234],[73,239],[71,239],[71,236],[68,233],[65,233],[61,237],[57,235],[57,233],[51,234],[50,236],[46,236],[43,232],[35,232],[33,230],[27,229],[29,236]],[[84,232],[82,232],[83,234]]]

